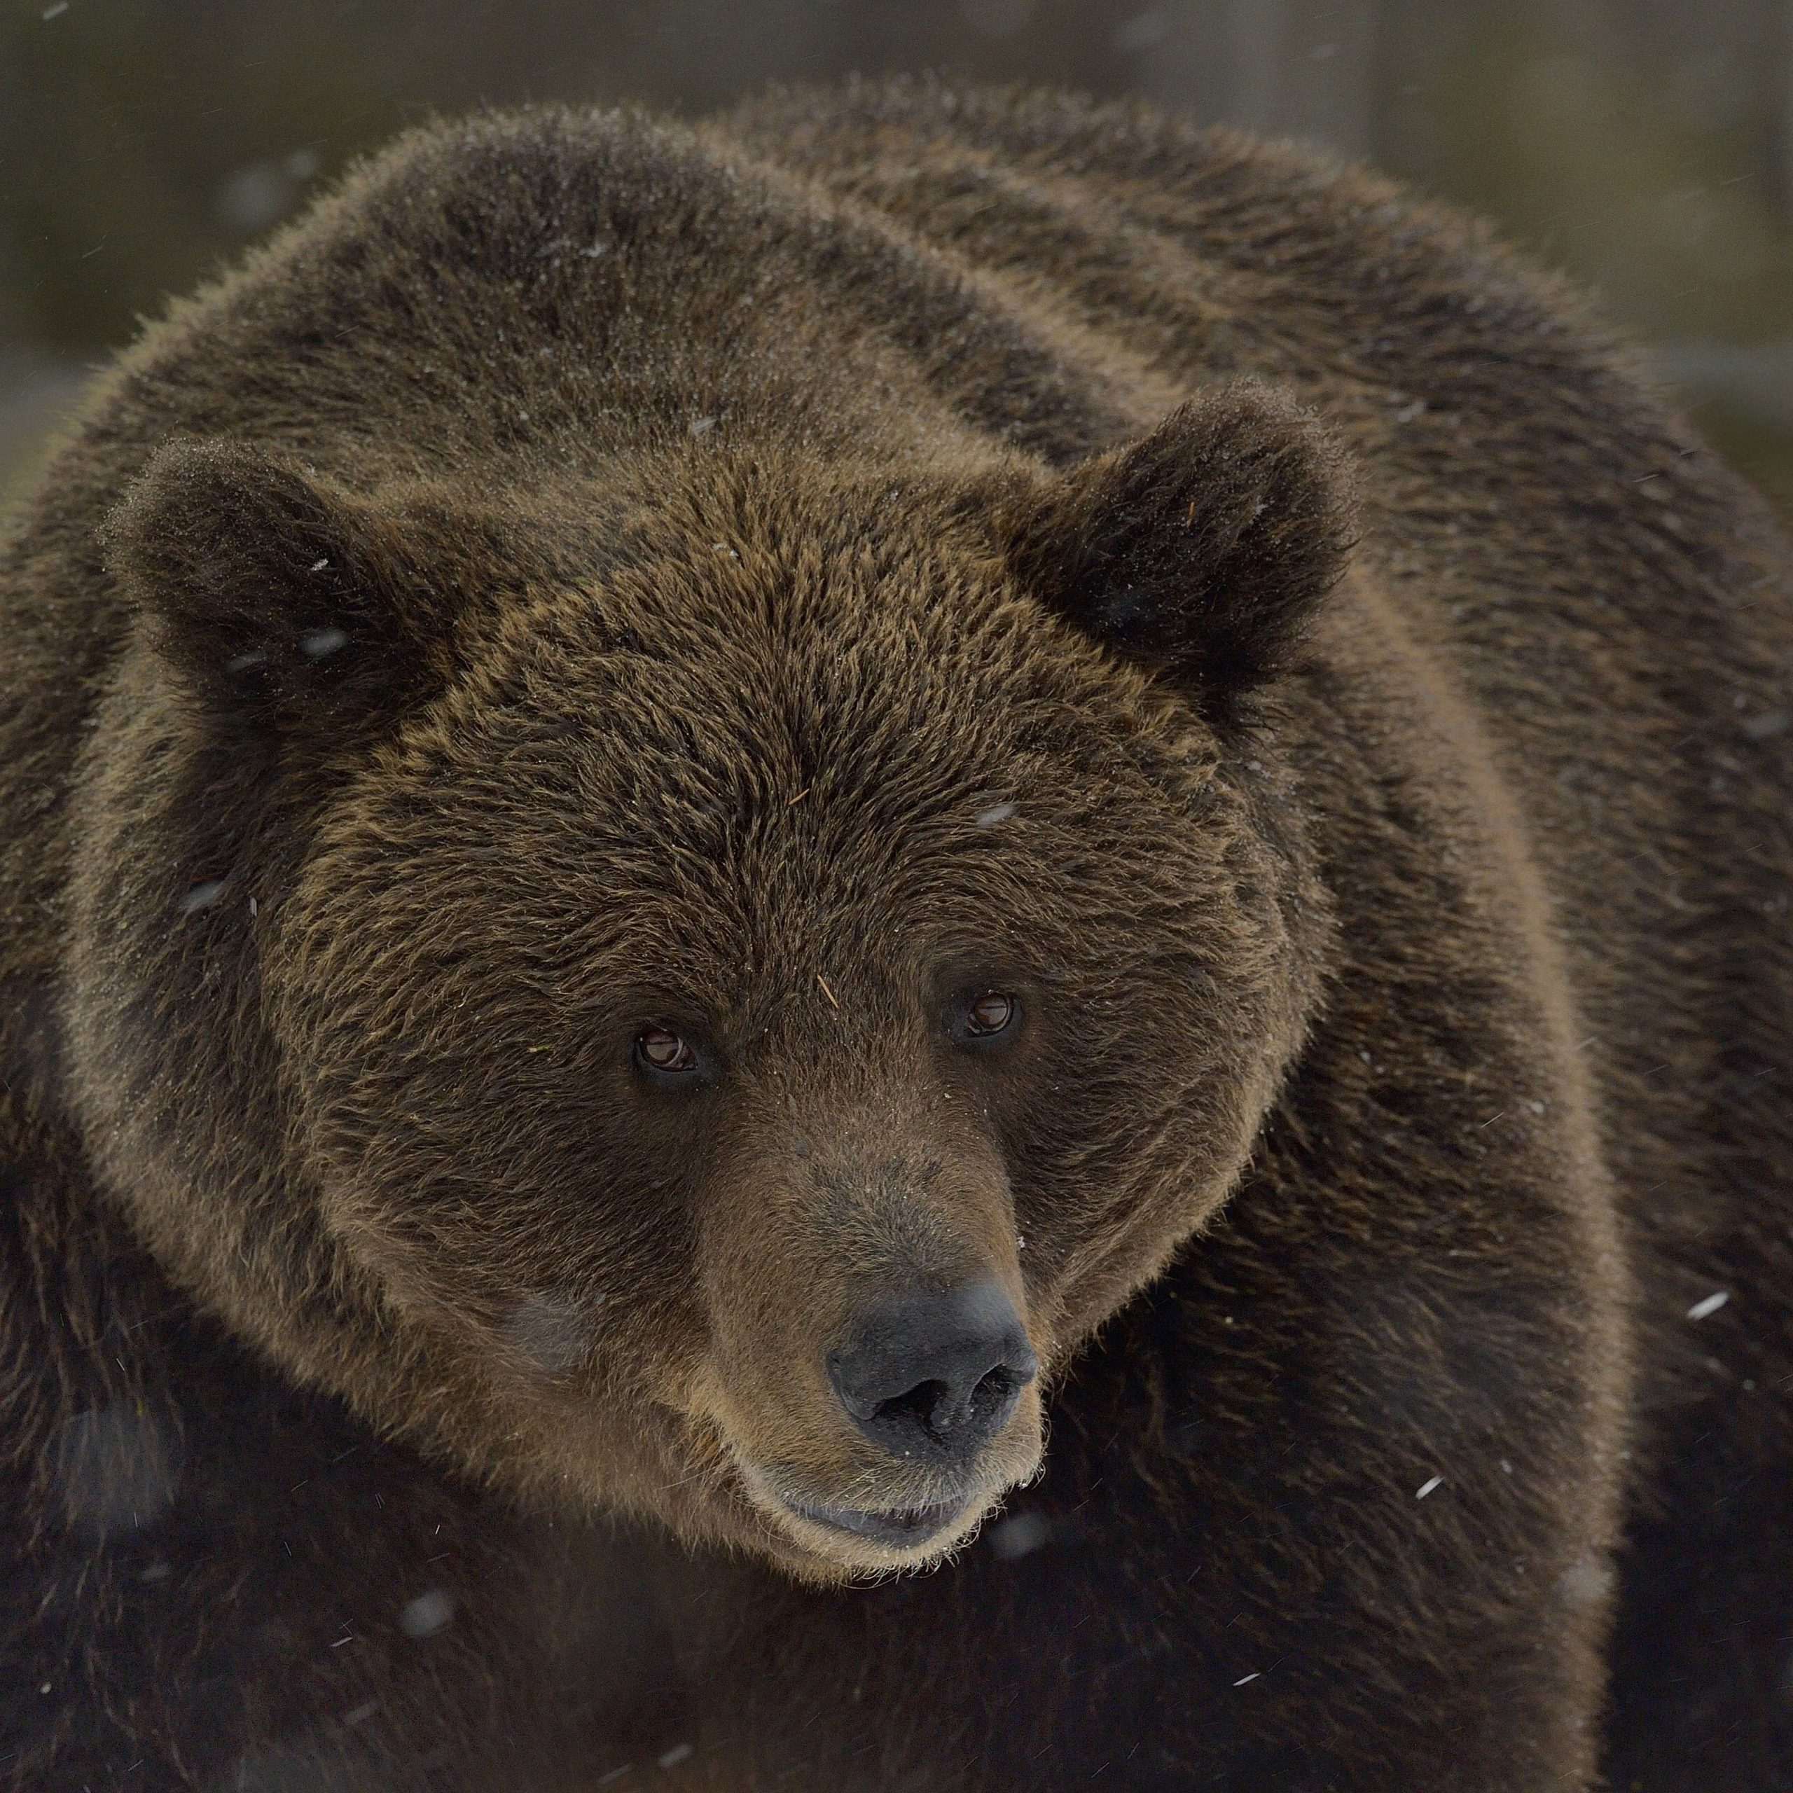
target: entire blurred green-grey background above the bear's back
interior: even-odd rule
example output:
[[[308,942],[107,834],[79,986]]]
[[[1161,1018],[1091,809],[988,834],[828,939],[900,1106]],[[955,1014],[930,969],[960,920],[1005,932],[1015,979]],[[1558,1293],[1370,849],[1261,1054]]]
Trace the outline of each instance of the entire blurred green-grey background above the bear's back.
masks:
[[[1793,0],[0,5],[0,488],[143,314],[432,111],[938,68],[1144,93],[1490,213],[1793,507]]]

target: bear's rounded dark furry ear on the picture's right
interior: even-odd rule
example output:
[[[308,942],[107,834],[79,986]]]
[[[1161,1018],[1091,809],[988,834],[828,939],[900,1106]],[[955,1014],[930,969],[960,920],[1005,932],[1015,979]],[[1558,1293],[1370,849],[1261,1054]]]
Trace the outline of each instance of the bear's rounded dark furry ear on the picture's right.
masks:
[[[1352,545],[1343,455],[1252,382],[1072,468],[1029,511],[1011,540],[1027,588],[1216,721],[1286,671]]]

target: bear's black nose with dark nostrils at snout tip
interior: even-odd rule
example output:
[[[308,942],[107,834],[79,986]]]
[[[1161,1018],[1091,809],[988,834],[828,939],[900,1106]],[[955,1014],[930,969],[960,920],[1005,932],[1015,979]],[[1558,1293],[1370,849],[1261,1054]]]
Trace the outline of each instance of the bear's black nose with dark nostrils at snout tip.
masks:
[[[875,1445],[954,1465],[995,1438],[1038,1368],[995,1282],[871,1307],[852,1343],[828,1354],[841,1406]]]

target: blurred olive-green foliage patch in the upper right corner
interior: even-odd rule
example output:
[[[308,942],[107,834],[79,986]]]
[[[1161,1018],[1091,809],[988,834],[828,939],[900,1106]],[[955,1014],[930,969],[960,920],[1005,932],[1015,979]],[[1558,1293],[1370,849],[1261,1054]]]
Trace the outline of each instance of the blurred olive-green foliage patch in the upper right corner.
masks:
[[[1408,11],[1427,50],[1388,97],[1390,165],[1499,219],[1646,335],[1793,328],[1782,0],[1705,0],[1653,32],[1639,5]]]

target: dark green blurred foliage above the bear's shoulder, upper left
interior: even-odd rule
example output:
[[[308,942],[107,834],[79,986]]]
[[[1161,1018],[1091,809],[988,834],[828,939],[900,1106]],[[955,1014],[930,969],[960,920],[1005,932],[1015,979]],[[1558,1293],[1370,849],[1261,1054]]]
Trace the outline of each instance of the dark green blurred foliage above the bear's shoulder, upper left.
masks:
[[[13,5],[0,38],[0,335],[86,355],[260,233],[305,186],[432,111],[624,97],[703,111],[775,77],[896,66],[1113,91],[1087,7],[635,0]],[[54,16],[47,16],[52,14]]]

